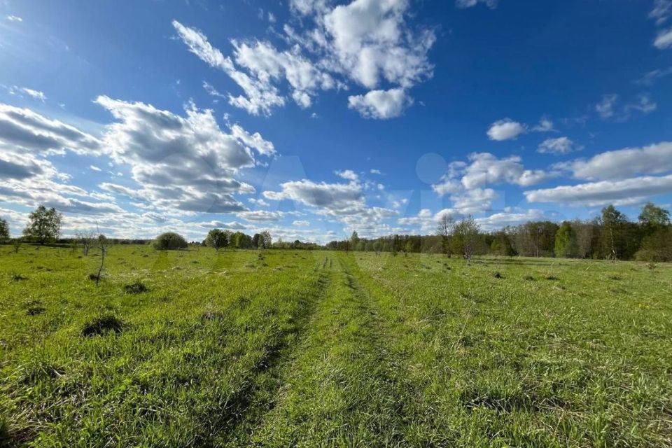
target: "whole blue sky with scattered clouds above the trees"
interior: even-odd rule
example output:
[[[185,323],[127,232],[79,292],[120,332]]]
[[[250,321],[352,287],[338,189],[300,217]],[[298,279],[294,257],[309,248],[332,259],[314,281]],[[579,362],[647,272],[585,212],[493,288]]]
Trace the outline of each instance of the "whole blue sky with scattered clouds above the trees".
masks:
[[[672,203],[672,0],[0,0],[0,216],[328,241]]]

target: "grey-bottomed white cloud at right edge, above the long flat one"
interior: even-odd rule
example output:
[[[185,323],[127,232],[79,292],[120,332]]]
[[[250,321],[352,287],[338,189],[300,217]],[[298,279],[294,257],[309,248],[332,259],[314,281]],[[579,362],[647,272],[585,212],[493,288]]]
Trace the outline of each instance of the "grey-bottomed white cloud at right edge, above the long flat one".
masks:
[[[589,160],[559,165],[577,179],[626,179],[639,174],[672,172],[672,142],[663,141],[643,148],[606,151]]]

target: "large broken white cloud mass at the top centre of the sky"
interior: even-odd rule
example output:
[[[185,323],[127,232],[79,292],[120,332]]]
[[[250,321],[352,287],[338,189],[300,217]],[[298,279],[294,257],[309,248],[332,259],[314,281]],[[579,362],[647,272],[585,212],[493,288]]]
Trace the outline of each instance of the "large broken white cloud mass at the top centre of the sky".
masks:
[[[394,118],[411,104],[407,90],[433,75],[427,53],[435,42],[430,29],[407,24],[407,0],[353,0],[332,6],[327,1],[297,0],[290,9],[302,16],[302,29],[286,25],[290,47],[279,50],[258,39],[232,40],[232,56],[225,56],[207,36],[176,20],[173,26],[190,52],[221,69],[244,94],[221,94],[233,106],[254,115],[269,115],[288,97],[302,108],[311,106],[320,90],[347,89],[348,81],[366,87],[366,94],[349,97],[349,107],[367,118]],[[381,83],[390,87],[379,89]]]

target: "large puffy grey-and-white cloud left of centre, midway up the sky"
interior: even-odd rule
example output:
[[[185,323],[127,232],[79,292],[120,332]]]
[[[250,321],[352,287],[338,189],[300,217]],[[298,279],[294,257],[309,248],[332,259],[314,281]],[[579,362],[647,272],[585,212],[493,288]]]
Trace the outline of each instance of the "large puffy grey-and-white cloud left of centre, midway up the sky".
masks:
[[[212,111],[193,104],[183,117],[140,102],[109,97],[98,97],[96,102],[117,120],[104,132],[106,152],[116,162],[130,165],[132,179],[141,186],[137,191],[125,188],[125,194],[183,211],[245,211],[234,195],[254,189],[235,175],[254,166],[251,148],[260,154],[272,151],[259,134],[239,127],[226,134]]]

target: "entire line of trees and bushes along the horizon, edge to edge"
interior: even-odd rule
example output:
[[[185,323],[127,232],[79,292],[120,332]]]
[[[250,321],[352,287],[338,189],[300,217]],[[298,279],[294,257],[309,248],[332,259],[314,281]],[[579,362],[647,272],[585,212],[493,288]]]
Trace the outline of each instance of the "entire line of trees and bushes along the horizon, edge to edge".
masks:
[[[155,248],[179,249],[188,247],[184,237],[166,232],[153,240],[106,239],[97,230],[76,232],[74,238],[59,240],[63,216],[43,205],[29,214],[29,223],[20,238],[10,239],[7,221],[0,219],[0,242],[13,241],[15,251],[23,241],[47,244],[54,241],[78,244],[85,255],[96,245],[152,241]],[[495,232],[484,232],[471,216],[455,219],[449,214],[440,216],[434,235],[390,235],[380,238],[360,238],[353,232],[349,239],[330,241],[325,246],[299,240],[272,241],[267,230],[254,235],[243,232],[213,229],[200,243],[220,250],[222,248],[327,248],[342,251],[372,251],[398,253],[444,253],[471,258],[473,255],[505,255],[528,257],[595,258],[608,260],[672,261],[672,225],[668,210],[651,202],[645,204],[637,221],[630,221],[621,211],[610,205],[600,216],[590,221],[574,220],[554,223],[530,221],[509,226]]]

